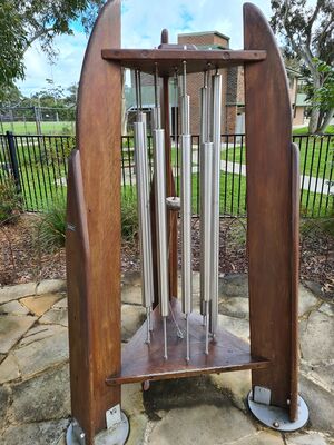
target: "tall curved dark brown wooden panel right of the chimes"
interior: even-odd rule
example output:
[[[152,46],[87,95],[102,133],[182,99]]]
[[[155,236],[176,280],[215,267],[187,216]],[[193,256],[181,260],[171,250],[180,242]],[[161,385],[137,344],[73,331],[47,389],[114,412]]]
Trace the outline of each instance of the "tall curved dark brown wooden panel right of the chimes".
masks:
[[[274,34],[250,3],[244,6],[244,34],[246,50],[267,51],[266,60],[245,66],[250,350],[272,360],[268,369],[253,370],[252,379],[253,386],[272,390],[273,405],[287,408],[297,396],[292,385],[297,378],[292,353],[297,227],[292,220],[291,103]]]

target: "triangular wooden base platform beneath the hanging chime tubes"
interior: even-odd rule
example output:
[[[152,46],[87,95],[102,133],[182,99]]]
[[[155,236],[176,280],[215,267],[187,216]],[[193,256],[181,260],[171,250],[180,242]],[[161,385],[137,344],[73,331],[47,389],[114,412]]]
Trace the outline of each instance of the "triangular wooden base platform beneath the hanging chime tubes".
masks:
[[[175,320],[184,333],[177,336],[171,314],[167,318],[168,359],[164,355],[164,330],[159,307],[153,313],[151,343],[146,344],[146,322],[137,330],[121,354],[121,374],[110,376],[108,385],[119,385],[144,380],[191,377],[200,374],[224,373],[229,370],[266,368],[269,360],[252,357],[249,345],[225,329],[219,329],[215,342],[209,343],[209,354],[205,355],[205,327],[203,317],[193,313],[189,316],[190,362],[186,363],[185,315],[176,298],[171,300]]]

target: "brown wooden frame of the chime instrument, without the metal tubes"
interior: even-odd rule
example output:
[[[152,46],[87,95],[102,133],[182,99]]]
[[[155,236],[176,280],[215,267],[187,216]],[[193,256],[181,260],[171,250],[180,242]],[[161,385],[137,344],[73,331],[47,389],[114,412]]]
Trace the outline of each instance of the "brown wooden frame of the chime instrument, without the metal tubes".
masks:
[[[164,46],[120,50],[120,1],[110,0],[90,37],[79,86],[77,150],[70,158],[66,243],[72,416],[87,445],[106,428],[106,411],[120,403],[120,385],[128,382],[252,369],[253,386],[269,388],[272,403],[288,409],[292,421],[296,417],[298,152],[291,145],[287,82],[273,33],[249,3],[244,7],[244,23],[245,51],[196,53]],[[168,43],[166,33],[161,42]],[[187,58],[193,72],[207,61],[216,67],[245,65],[250,319],[250,350],[222,329],[209,356],[195,354],[189,365],[177,345],[167,363],[157,354],[157,308],[151,345],[145,344],[144,324],[122,353],[120,347],[121,67],[151,72],[155,61],[161,63],[168,134],[168,76],[170,67]],[[175,187],[169,138],[165,149],[170,196]],[[151,194],[154,198],[154,189]],[[169,211],[168,217],[170,298],[177,291],[175,215]],[[175,298],[171,304],[180,317]],[[196,348],[203,328],[196,316],[191,318]]]

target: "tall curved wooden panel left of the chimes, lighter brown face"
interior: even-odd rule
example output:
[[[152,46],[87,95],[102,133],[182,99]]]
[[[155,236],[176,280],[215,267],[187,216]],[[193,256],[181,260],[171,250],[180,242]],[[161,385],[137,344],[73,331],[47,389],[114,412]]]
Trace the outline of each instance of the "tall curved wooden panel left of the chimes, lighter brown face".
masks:
[[[110,388],[105,383],[110,374],[120,372],[121,345],[121,71],[118,62],[101,58],[101,49],[110,46],[120,46],[120,0],[108,1],[95,24],[85,55],[77,111],[77,148],[80,152],[88,227],[89,286],[80,294],[79,304],[80,309],[85,308],[88,314],[88,352],[85,357],[88,363],[84,364],[78,359],[76,366],[87,366],[90,378],[89,387],[75,385],[75,397],[78,397],[78,402],[72,405],[72,415],[86,434],[86,428],[90,428],[91,435],[106,427],[106,411],[120,402],[120,387]],[[69,207],[71,205],[70,201]],[[75,263],[73,267],[84,267],[82,259],[75,257],[70,248],[67,254],[68,264]],[[73,281],[69,298],[75,299],[71,289],[78,277],[71,276],[71,269],[68,279]],[[84,320],[70,319],[70,325],[76,323],[82,324]],[[70,326],[70,329],[78,332],[77,327]],[[86,338],[77,337],[76,342],[86,342]],[[86,394],[89,394],[89,399],[85,399]],[[89,425],[85,423],[85,426],[84,409],[89,409],[90,413]]]

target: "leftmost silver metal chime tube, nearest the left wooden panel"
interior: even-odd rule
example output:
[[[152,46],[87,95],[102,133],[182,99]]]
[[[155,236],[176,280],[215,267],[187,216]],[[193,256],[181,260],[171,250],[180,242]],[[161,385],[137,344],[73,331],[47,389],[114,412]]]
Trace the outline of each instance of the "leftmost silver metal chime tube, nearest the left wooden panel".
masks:
[[[153,256],[151,256],[151,229],[150,229],[150,202],[148,181],[147,156],[147,128],[146,115],[139,112],[141,108],[140,75],[136,71],[137,122],[134,123],[135,134],[135,162],[137,180],[137,204],[139,220],[139,245],[141,257],[141,296],[143,306],[147,314],[147,343],[150,343],[150,314],[154,299],[153,283]]]

